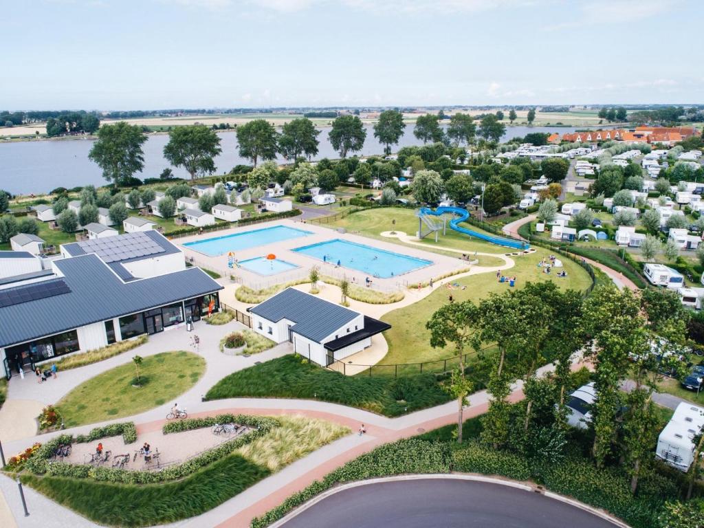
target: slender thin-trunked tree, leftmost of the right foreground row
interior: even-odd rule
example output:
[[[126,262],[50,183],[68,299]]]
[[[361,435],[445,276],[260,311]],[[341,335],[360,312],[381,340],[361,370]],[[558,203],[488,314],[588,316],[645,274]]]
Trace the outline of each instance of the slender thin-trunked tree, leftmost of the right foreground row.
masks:
[[[425,323],[430,330],[430,346],[445,348],[448,343],[455,344],[460,358],[459,367],[448,386],[453,398],[458,401],[457,441],[462,441],[463,407],[466,405],[467,394],[472,390],[472,384],[465,379],[465,349],[469,346],[477,351],[479,348],[477,335],[481,313],[472,301],[448,303],[441,306]]]

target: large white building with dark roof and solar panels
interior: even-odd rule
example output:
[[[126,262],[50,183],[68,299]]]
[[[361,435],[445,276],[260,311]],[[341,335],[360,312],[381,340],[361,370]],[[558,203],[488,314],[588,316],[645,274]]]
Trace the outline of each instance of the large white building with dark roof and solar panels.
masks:
[[[220,284],[200,268],[186,268],[183,253],[156,231],[65,244],[61,254],[51,269],[0,281],[7,377],[220,309]]]

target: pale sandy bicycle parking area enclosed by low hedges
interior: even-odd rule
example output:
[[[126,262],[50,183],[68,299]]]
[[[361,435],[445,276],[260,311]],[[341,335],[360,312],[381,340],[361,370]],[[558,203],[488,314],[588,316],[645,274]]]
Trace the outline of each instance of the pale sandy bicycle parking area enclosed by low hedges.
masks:
[[[243,434],[246,434],[246,431]],[[110,436],[88,442],[87,444],[73,444],[71,455],[64,460],[73,464],[89,463],[90,455],[95,452],[98,443],[102,442],[103,452],[112,451],[111,458],[103,464],[105,467],[112,467],[115,455],[129,454],[130,462],[125,465],[124,469],[143,470],[145,467],[144,457],[138,455],[137,460],[134,460],[134,451],[139,450],[144,445],[144,442],[149,443],[152,452],[159,450],[162,464],[172,465],[185,462],[188,458],[192,458],[194,455],[218,446],[218,444],[222,444],[222,442],[234,437],[234,435],[227,436],[225,434],[215,435],[211,432],[210,427],[172,434],[153,431],[139,434],[134,444],[125,446],[122,436]]]

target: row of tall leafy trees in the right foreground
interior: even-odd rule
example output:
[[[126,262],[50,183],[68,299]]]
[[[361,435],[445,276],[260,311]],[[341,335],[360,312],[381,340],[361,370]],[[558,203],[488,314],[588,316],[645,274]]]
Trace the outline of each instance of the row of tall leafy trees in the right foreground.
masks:
[[[610,285],[583,300],[576,291],[543,282],[491,294],[478,305],[449,303],[434,313],[427,328],[432,346],[453,344],[460,354],[474,351],[488,372],[491,400],[482,418],[481,440],[495,449],[549,461],[564,458],[567,451],[566,403],[575,388],[572,360],[582,351],[594,365],[591,457],[597,467],[622,465],[636,493],[641,475],[653,470],[660,427],[652,400],[658,371],[683,374],[677,352],[686,340],[688,319],[671,291],[648,289],[636,295]],[[667,350],[654,353],[653,343]],[[496,352],[482,351],[489,344]],[[539,377],[537,368],[548,360],[555,364],[553,374]],[[624,377],[635,382],[628,393],[620,390]],[[508,396],[519,379],[526,399],[513,406]],[[462,365],[448,383],[460,403],[460,441],[461,403],[470,390]]]

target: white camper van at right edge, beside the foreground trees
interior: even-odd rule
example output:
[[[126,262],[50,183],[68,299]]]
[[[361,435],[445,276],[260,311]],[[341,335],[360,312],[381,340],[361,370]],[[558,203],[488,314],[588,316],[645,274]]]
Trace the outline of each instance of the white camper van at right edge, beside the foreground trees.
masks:
[[[704,408],[680,403],[672,419],[658,436],[655,456],[672,467],[686,472],[694,459],[693,437],[704,426]]]

